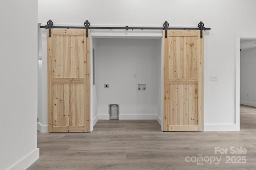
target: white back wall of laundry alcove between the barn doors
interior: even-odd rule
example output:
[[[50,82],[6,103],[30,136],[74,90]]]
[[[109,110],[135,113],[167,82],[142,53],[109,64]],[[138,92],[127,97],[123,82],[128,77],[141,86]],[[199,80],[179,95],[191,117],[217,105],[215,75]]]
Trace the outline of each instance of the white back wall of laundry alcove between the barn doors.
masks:
[[[97,39],[96,54],[99,119],[109,119],[109,104],[119,104],[120,119],[156,119],[161,99],[160,39]],[[143,83],[147,92],[137,92]]]

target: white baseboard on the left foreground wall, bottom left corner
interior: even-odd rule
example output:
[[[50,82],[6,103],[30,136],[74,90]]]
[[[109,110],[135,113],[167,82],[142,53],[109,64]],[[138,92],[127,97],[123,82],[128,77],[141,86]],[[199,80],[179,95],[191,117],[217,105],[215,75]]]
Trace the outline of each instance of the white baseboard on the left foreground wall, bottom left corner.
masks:
[[[39,148],[34,149],[32,152],[18,160],[15,164],[6,170],[25,170],[32,165],[39,158]]]

